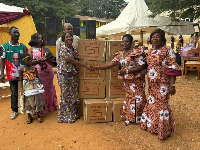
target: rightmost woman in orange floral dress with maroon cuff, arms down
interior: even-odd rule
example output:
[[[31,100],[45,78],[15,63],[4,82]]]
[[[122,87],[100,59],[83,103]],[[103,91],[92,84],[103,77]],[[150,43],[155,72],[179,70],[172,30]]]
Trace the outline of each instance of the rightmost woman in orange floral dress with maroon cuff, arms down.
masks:
[[[170,95],[175,94],[176,76],[181,75],[173,49],[166,45],[165,32],[157,29],[150,35],[154,48],[148,51],[148,102],[144,108],[141,127],[167,138],[175,131],[173,114],[169,105]]]

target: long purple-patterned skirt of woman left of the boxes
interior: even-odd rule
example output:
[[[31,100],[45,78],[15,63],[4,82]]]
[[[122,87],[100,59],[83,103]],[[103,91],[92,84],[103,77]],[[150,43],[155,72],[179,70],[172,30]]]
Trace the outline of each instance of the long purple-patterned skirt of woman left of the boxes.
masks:
[[[73,123],[79,118],[78,75],[58,74],[58,82],[61,89],[58,122]]]

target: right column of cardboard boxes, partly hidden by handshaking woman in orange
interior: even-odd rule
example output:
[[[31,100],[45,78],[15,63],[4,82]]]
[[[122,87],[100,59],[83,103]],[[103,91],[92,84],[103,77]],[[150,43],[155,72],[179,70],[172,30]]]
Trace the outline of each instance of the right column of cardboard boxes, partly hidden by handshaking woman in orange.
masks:
[[[122,50],[121,41],[108,41],[106,63],[114,58],[117,51]],[[124,83],[118,79],[120,65],[106,70],[106,98],[113,102],[113,121],[121,120],[122,106],[125,100]]]

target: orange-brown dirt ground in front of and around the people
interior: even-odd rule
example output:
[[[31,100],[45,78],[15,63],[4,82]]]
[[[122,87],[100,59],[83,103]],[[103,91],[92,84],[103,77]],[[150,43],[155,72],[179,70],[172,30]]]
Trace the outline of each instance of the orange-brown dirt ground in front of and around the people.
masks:
[[[26,124],[27,115],[10,119],[10,98],[0,99],[1,150],[198,150],[200,149],[200,80],[191,72],[187,80],[177,79],[177,94],[170,104],[177,125],[171,137],[160,141],[157,135],[124,126],[123,122],[85,124],[83,117],[74,124],[58,123],[57,111],[43,115],[44,122]],[[59,97],[56,76],[54,84]],[[10,94],[9,88],[0,95]]]

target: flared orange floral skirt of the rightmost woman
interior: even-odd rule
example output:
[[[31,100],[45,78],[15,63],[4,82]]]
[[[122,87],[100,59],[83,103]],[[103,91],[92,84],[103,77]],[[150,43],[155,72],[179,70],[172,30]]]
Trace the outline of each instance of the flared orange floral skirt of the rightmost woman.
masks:
[[[149,83],[148,102],[144,108],[141,127],[158,134],[159,139],[167,138],[176,127],[169,105],[169,83]]]

